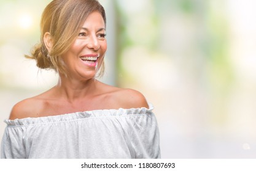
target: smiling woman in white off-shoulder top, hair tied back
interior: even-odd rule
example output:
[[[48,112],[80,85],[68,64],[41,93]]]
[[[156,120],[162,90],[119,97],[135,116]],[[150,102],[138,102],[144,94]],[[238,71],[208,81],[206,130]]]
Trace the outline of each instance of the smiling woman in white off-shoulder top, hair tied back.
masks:
[[[96,0],[54,0],[31,56],[58,84],[15,104],[1,158],[160,158],[157,120],[144,96],[106,85],[106,16]]]

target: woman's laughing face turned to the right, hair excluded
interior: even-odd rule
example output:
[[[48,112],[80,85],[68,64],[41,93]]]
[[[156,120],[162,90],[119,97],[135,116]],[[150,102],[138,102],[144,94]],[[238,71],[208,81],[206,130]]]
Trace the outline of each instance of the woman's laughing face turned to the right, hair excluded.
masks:
[[[69,77],[95,77],[107,50],[105,36],[105,24],[101,13],[91,13],[80,28],[71,48],[62,56]]]

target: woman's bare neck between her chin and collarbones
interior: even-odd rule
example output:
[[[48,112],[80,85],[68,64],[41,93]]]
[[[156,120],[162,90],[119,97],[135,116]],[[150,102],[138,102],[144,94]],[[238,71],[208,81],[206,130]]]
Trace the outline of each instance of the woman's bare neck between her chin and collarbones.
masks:
[[[86,96],[93,95],[97,82],[95,78],[80,81],[60,76],[56,89],[63,100],[72,103],[73,101],[82,100]]]

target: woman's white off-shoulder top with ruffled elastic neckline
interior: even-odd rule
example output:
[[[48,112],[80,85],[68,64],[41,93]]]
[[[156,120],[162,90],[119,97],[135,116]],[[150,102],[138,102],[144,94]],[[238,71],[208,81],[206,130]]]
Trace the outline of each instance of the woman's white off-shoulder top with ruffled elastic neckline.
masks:
[[[160,158],[152,109],[5,120],[1,158]]]

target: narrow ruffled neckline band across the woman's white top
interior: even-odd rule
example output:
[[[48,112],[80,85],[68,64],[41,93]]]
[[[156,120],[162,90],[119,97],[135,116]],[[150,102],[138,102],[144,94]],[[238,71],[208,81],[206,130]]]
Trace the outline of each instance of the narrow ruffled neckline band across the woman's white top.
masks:
[[[146,107],[131,109],[98,109],[93,111],[74,112],[61,115],[50,115],[46,117],[27,117],[17,118],[15,120],[4,120],[8,126],[28,126],[42,125],[47,123],[71,122],[76,120],[97,118],[97,117],[122,117],[130,115],[149,114],[153,110],[153,105],[149,103],[149,109]]]

